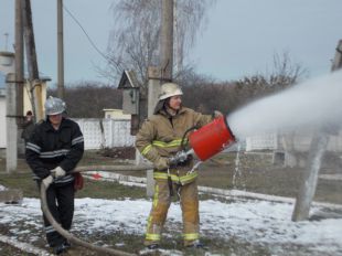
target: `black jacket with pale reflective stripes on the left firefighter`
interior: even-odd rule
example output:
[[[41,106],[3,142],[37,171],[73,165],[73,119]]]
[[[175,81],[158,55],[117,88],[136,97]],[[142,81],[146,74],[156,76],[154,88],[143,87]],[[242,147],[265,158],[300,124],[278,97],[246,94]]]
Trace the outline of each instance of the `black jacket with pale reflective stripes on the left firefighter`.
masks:
[[[42,180],[50,171],[61,167],[66,175],[54,181],[55,184],[71,183],[70,174],[82,159],[84,138],[79,126],[71,119],[62,119],[55,130],[49,120],[36,125],[26,145],[26,162],[33,171],[34,180]]]

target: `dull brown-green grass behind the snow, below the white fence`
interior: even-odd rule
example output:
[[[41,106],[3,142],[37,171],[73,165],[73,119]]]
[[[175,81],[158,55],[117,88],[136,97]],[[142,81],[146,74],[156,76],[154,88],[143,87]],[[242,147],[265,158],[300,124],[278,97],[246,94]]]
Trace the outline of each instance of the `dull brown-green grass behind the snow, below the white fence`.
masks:
[[[329,157],[329,158],[328,158]],[[332,158],[328,156],[323,162],[320,173],[336,173],[341,170],[339,164],[341,160],[339,158]],[[304,157],[303,157],[304,158]],[[335,164],[332,168],[332,163]],[[213,159],[205,161],[200,166],[200,179],[199,185],[213,186],[218,189],[237,189],[246,190],[249,192],[280,195],[296,198],[300,184],[302,182],[303,168],[285,168],[274,166],[271,162],[271,154],[264,153],[239,153],[238,172],[236,171],[236,153],[220,153]],[[97,151],[85,151],[84,157],[78,166],[108,166],[108,164],[122,164],[118,162],[118,159],[100,156]],[[331,166],[329,169],[329,164]],[[3,167],[4,160],[0,159],[0,168]],[[1,168],[2,169],[2,168]],[[1,170],[0,169],[0,170]],[[3,181],[3,185],[15,188],[17,180],[20,180],[20,186],[23,186],[25,196],[33,196],[35,184],[31,177],[29,167],[24,160],[18,162],[18,174],[9,175],[7,181]],[[3,173],[0,171],[0,173]],[[121,172],[125,175],[146,177],[145,171],[129,171]],[[0,174],[0,179],[3,179],[4,174]],[[1,184],[1,180],[0,180]],[[342,204],[341,181],[327,181],[319,179],[316,201],[331,202]],[[28,194],[28,195],[26,195]],[[116,182],[101,182],[100,186],[96,181],[86,180],[85,189],[77,192],[77,196],[89,198],[104,198],[104,199],[124,199],[124,198],[143,198],[146,194],[145,189],[141,188],[125,188]],[[35,195],[36,196],[36,195]]]

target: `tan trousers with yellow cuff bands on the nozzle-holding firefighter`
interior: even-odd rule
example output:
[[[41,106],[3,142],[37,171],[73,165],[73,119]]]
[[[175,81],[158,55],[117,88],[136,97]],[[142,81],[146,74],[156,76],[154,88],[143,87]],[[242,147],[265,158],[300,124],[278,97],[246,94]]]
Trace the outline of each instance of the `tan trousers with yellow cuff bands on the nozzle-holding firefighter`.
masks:
[[[161,232],[167,220],[171,204],[168,180],[156,179],[152,210],[148,218],[145,245],[159,244]],[[174,194],[177,185],[173,183]],[[196,179],[180,186],[180,204],[183,216],[184,246],[191,245],[199,239],[199,193]]]

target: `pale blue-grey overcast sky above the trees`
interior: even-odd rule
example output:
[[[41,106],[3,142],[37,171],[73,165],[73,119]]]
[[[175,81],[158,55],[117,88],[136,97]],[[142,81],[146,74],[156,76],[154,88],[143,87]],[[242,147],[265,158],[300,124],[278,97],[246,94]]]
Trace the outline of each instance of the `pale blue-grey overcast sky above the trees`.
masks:
[[[0,51],[14,36],[14,0],[0,0]],[[105,52],[114,24],[114,0],[64,0],[97,47]],[[31,0],[40,72],[56,82],[56,0]],[[288,52],[311,77],[330,72],[342,39],[342,0],[217,0],[209,11],[206,29],[190,52],[199,73],[221,81],[266,73],[275,53]],[[101,81],[95,66],[105,60],[79,26],[64,13],[65,82]]]

